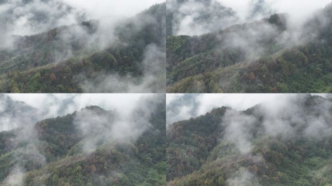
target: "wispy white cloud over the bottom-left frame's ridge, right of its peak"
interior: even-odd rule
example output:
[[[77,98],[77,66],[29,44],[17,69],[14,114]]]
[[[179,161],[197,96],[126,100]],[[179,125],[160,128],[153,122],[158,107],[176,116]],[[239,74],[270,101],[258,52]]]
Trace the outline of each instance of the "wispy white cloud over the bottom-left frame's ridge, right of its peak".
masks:
[[[152,128],[151,114],[157,104],[165,100],[162,95],[142,96],[131,110],[115,109],[102,113],[95,109],[82,109],[74,118],[74,124],[82,132],[83,152],[91,153],[100,142],[130,143]]]

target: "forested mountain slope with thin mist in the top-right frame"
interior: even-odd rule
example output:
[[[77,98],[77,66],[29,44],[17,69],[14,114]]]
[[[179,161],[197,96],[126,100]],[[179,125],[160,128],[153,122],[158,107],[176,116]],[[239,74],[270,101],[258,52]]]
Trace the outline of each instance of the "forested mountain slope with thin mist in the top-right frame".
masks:
[[[166,91],[331,92],[331,12],[329,4],[300,29],[287,14],[274,14],[199,36],[168,32]],[[167,15],[168,30],[174,29],[173,19]]]

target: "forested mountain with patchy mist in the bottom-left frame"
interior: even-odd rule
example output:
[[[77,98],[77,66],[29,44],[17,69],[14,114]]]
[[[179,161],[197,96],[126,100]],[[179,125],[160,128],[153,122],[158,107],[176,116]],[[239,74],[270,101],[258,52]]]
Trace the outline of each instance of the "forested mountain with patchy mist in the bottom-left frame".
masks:
[[[1,186],[164,186],[165,98],[130,115],[90,106],[0,132]]]

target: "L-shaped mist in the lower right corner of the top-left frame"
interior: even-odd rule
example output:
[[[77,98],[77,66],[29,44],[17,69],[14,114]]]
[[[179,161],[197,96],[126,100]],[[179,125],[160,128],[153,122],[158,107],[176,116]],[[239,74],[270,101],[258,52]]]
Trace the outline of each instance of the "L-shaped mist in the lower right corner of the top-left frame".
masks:
[[[164,93],[166,90],[166,52],[165,48],[155,44],[148,45],[144,50],[142,61],[143,76],[132,77],[118,74],[100,73],[96,78],[86,78],[84,74],[78,79],[86,93]]]

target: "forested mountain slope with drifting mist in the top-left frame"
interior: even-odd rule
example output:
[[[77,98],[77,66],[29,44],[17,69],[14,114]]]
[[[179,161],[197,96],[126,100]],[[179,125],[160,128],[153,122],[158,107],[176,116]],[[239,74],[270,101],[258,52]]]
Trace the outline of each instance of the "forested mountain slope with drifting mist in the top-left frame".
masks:
[[[0,47],[0,92],[164,92],[165,12],[166,3],[156,4],[116,23],[12,36]]]

